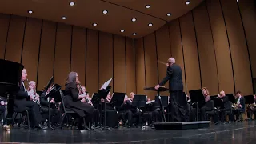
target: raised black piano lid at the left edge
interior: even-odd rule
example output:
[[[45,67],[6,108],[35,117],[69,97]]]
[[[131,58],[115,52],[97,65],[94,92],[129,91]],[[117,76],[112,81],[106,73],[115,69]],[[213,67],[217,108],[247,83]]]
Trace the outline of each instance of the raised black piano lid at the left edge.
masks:
[[[18,62],[0,59],[0,67],[0,94],[18,90],[18,82],[21,80],[24,66]]]

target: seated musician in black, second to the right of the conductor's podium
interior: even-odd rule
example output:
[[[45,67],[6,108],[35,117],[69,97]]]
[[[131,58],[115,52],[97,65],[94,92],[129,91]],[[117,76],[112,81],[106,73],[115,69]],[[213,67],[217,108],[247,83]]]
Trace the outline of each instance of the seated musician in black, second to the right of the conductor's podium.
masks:
[[[221,122],[226,123],[226,111],[230,110],[230,101],[229,98],[226,96],[225,91],[221,91],[220,94],[218,94],[218,98],[221,98],[223,102],[223,107],[220,108],[219,115],[221,117]],[[231,116],[231,115],[230,115]]]

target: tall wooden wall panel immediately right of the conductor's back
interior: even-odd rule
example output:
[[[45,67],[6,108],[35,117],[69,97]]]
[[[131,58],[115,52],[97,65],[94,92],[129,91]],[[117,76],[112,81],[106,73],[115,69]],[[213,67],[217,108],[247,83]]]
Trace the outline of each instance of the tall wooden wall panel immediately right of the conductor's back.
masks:
[[[180,26],[186,69],[186,88],[187,90],[200,89],[201,76],[198,61],[198,49],[191,12],[180,18]]]

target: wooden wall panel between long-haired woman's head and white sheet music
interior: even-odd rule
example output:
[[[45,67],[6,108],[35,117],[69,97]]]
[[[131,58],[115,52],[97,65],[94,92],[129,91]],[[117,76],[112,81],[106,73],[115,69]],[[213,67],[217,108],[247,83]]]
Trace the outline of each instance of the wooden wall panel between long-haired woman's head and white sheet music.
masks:
[[[87,30],[86,89],[90,94],[98,91],[98,31]]]

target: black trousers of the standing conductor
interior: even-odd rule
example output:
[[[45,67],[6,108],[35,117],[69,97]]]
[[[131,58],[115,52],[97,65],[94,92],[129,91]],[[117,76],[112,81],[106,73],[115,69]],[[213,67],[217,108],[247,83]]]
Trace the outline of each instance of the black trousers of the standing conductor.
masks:
[[[186,118],[186,100],[182,90],[170,91],[170,111],[172,122],[182,122]]]

